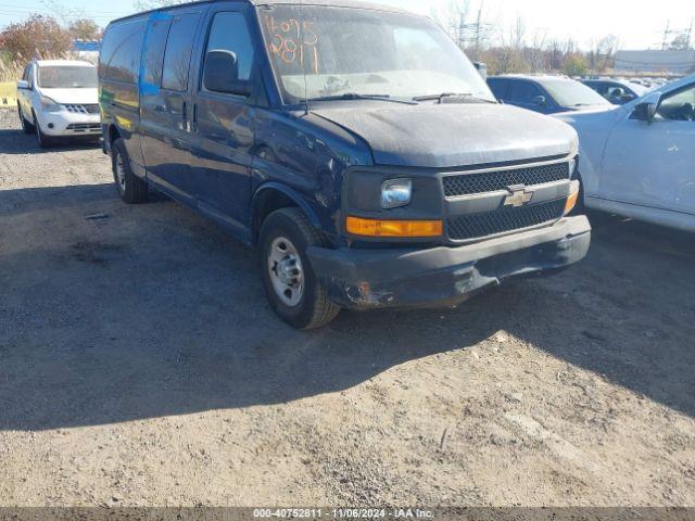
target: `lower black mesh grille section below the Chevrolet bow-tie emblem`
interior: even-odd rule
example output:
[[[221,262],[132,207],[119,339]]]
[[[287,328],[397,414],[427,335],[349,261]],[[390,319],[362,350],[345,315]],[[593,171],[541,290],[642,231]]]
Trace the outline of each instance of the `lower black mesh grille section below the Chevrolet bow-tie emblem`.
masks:
[[[448,219],[448,237],[466,241],[552,223],[563,217],[566,200],[521,208],[505,208]]]

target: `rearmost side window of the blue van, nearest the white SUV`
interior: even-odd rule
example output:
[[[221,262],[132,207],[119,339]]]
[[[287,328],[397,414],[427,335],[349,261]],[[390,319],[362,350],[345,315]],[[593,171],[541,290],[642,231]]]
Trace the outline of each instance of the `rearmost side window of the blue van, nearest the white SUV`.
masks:
[[[140,54],[144,37],[144,21],[110,27],[99,54],[101,77],[136,84],[140,73]]]

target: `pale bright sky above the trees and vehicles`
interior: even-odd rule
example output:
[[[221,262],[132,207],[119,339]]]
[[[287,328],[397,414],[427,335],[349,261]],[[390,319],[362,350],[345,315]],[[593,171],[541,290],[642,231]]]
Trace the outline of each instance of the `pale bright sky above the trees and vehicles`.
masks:
[[[308,0],[311,1],[311,0]],[[571,37],[583,49],[592,40],[606,35],[620,38],[623,49],[660,48],[664,30],[670,22],[672,29],[686,29],[695,18],[695,1],[660,0],[641,7],[634,0],[371,0],[432,15],[447,12],[454,2],[470,3],[471,17],[483,3],[483,21],[491,24],[495,35],[508,35],[518,16],[525,22],[527,35],[547,38]],[[646,2],[644,2],[646,3]],[[54,5],[51,9],[47,5]],[[61,14],[60,11],[81,11],[101,25],[110,20],[135,12],[131,0],[0,0],[0,27],[20,21],[30,12]],[[693,29],[695,40],[695,28]]]

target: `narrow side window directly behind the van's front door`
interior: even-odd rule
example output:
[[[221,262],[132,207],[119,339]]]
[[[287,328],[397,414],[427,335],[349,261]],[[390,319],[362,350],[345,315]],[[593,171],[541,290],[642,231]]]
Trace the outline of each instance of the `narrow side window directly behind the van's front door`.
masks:
[[[164,53],[163,89],[178,92],[188,90],[188,72],[199,18],[199,14],[174,17]]]

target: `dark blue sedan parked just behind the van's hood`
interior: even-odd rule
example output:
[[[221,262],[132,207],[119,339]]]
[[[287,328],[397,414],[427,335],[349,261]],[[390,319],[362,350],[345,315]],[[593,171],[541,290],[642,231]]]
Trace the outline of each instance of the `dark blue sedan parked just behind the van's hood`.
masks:
[[[488,85],[497,100],[542,114],[610,109],[610,103],[580,81],[563,76],[493,76]]]

